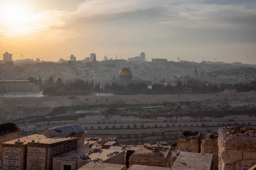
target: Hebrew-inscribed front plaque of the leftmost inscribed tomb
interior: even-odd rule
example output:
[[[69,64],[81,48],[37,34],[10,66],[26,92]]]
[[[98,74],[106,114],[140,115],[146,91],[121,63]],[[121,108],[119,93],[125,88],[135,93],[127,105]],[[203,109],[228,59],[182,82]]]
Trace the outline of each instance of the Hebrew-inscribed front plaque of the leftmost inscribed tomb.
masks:
[[[20,170],[20,148],[3,148],[3,170]]]

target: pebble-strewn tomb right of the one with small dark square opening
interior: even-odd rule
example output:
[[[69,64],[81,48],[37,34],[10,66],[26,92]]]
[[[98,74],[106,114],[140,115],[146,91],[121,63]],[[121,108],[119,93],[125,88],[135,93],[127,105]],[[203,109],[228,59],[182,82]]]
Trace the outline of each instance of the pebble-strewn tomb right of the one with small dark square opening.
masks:
[[[80,168],[92,161],[110,163],[110,164],[125,164],[125,151],[94,149],[93,153],[77,160],[77,168]]]

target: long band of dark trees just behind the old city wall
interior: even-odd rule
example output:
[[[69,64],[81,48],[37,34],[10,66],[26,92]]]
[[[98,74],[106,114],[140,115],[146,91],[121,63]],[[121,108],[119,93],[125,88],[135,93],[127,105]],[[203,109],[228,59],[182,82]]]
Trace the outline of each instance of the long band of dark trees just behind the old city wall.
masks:
[[[239,84],[224,84],[221,83],[209,83],[202,82],[199,79],[188,78],[187,81],[177,81],[176,85],[164,85],[164,84],[153,84],[151,88],[148,88],[150,81],[141,81],[138,84],[128,84],[128,85],[117,85],[115,82],[112,84],[88,82],[82,79],[75,79],[67,82],[63,82],[61,78],[58,78],[55,82],[53,77],[49,77],[42,82],[41,77],[35,79],[34,77],[29,77],[28,80],[31,83],[37,84],[44,94],[47,95],[67,95],[70,93],[86,94],[90,91],[95,92],[105,92],[121,95],[132,95],[132,94],[182,94],[182,93],[216,93],[224,91],[224,89],[236,89],[237,91],[252,91],[256,90],[256,81],[250,83],[239,83]]]

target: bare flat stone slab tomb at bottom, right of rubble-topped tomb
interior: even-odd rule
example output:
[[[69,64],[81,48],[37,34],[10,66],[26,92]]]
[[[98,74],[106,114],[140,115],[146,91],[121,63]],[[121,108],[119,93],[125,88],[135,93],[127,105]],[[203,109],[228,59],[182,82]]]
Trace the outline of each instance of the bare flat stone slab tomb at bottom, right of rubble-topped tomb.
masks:
[[[172,170],[213,170],[212,154],[182,152]]]

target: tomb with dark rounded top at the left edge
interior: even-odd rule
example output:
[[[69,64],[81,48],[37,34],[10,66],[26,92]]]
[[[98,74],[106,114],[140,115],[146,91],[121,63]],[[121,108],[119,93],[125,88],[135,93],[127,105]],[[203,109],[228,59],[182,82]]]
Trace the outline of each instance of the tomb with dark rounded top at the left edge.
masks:
[[[15,123],[12,123],[12,122],[0,123],[0,160],[2,158],[1,144],[3,142],[20,138],[20,131],[21,131],[20,127],[18,127]]]

